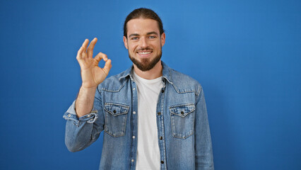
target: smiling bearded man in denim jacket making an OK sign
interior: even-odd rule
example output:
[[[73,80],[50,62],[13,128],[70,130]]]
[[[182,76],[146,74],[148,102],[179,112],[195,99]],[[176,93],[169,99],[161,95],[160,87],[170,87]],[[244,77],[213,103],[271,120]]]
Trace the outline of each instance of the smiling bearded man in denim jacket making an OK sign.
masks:
[[[69,151],[88,147],[105,130],[100,169],[214,169],[203,90],[160,60],[159,16],[132,11],[123,40],[133,67],[107,79],[111,60],[101,52],[93,58],[97,39],[78,50],[83,83],[64,114]]]

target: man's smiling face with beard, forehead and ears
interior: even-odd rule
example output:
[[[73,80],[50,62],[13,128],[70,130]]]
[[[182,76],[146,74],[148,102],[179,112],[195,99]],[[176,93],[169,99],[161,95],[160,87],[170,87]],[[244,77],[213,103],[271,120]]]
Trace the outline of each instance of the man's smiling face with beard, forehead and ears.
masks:
[[[165,33],[160,35],[153,19],[132,19],[126,27],[128,37],[124,37],[124,46],[129,50],[129,58],[143,72],[153,69],[161,59]]]

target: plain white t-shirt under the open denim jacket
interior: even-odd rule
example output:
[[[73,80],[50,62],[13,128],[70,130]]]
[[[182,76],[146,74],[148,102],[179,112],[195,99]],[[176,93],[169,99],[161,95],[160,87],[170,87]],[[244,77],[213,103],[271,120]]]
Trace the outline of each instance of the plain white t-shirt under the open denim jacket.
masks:
[[[143,79],[133,71],[138,92],[138,143],[136,169],[160,169],[156,108],[162,77]]]

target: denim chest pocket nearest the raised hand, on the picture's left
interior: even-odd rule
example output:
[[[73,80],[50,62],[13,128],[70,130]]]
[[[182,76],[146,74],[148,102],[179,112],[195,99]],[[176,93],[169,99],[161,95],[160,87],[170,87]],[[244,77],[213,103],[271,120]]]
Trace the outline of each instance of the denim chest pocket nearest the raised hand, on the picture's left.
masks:
[[[125,135],[126,115],[129,106],[119,103],[105,103],[105,132],[112,137]]]

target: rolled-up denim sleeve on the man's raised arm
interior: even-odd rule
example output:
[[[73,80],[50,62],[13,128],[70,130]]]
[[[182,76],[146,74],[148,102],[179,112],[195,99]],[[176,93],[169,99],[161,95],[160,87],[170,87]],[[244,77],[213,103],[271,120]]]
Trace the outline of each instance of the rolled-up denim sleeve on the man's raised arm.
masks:
[[[90,146],[100,136],[104,126],[104,115],[100,91],[95,92],[93,110],[78,118],[75,110],[75,101],[64,113],[66,119],[65,144],[70,152],[78,152]]]

